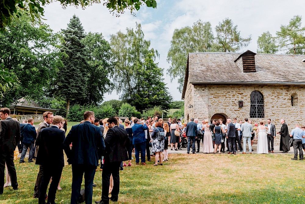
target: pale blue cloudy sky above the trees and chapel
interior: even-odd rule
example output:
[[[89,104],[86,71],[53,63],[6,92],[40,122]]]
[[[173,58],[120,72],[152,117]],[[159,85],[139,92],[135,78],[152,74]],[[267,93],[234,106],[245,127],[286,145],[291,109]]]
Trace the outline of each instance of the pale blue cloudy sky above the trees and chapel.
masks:
[[[215,28],[219,22],[229,18],[238,25],[243,38],[249,35],[252,37],[251,43],[239,52],[248,49],[256,52],[257,38],[263,32],[269,31],[271,35],[275,35],[280,26],[289,24],[289,20],[295,15],[303,16],[302,24],[305,23],[303,0],[157,0],[155,9],[142,5],[140,10],[135,12],[136,16],[126,10],[120,17],[110,13],[102,3],[85,9],[74,6],[63,9],[59,2],[53,2],[45,6],[46,20],[43,21],[57,32],[66,29],[74,14],[80,18],[85,32],[102,33],[108,41],[110,35],[118,31],[125,32],[127,27],[135,28],[136,22],[141,23],[145,39],[150,40],[151,47],[160,53],[160,58],[156,59],[156,62],[159,63],[159,67],[164,68],[164,81],[174,100],[181,100],[177,79],[170,82],[170,77],[166,74],[170,66],[166,60],[167,52],[174,29],[192,26],[199,19],[203,22],[209,21]],[[104,101],[119,99],[119,96],[120,94],[113,91],[104,96]]]

